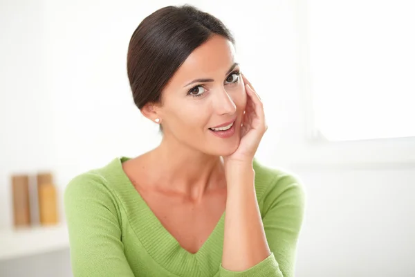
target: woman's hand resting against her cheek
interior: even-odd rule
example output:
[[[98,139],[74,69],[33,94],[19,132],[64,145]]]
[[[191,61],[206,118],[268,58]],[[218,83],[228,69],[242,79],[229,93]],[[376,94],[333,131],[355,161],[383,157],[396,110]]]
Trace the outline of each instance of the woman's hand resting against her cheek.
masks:
[[[225,163],[230,161],[252,163],[259,142],[268,129],[265,122],[264,105],[261,99],[243,74],[242,79],[245,84],[247,99],[241,126],[241,141],[234,153],[223,157]]]

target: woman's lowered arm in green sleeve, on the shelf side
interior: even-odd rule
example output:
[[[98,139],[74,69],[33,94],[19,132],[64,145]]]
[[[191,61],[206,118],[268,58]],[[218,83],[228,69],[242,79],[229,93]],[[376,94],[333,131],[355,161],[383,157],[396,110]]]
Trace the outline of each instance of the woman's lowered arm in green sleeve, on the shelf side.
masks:
[[[73,276],[133,277],[124,256],[117,207],[100,177],[75,177],[66,187],[64,207]]]

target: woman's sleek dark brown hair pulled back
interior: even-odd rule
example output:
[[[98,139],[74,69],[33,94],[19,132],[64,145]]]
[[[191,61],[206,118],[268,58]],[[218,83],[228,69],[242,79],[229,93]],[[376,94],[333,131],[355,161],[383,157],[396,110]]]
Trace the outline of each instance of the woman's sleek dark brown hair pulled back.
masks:
[[[161,92],[170,78],[194,49],[215,34],[235,43],[219,19],[188,4],[160,8],[142,20],[127,54],[127,73],[138,109],[147,102],[162,103]]]

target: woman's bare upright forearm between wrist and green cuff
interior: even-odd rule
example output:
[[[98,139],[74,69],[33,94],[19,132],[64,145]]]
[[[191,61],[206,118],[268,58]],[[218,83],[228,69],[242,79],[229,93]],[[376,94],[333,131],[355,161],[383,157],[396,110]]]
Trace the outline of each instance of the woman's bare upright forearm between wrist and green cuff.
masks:
[[[252,163],[229,167],[222,265],[230,271],[243,271],[270,256],[270,249],[255,194]]]

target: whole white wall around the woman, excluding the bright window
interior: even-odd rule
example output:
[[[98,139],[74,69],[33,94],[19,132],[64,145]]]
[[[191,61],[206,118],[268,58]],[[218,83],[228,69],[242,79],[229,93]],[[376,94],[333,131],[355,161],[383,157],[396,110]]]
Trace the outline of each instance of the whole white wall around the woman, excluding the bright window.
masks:
[[[157,126],[133,105],[127,46],[145,16],[178,3],[0,2],[0,229],[12,224],[12,172],[52,169],[62,195],[79,172],[157,145]],[[296,13],[300,2],[188,3],[222,19],[237,39],[243,71],[261,94],[268,118],[259,159],[293,170],[306,183],[308,207],[297,276],[414,276],[409,266],[415,254],[415,205],[410,202],[414,167],[384,163],[383,168],[369,164],[369,170],[324,168],[317,165],[322,152],[311,150],[304,139]],[[358,145],[349,147],[359,152]],[[303,152],[313,155],[304,157]],[[336,153],[325,151],[323,160],[342,161]],[[415,157],[415,150],[407,155]],[[61,262],[53,262],[52,271],[26,260],[21,265],[28,265],[27,271],[12,276],[56,276],[51,272],[59,269],[68,274],[68,256],[59,253]],[[40,257],[50,259],[47,254]],[[0,263],[0,269],[11,272],[10,265]]]

